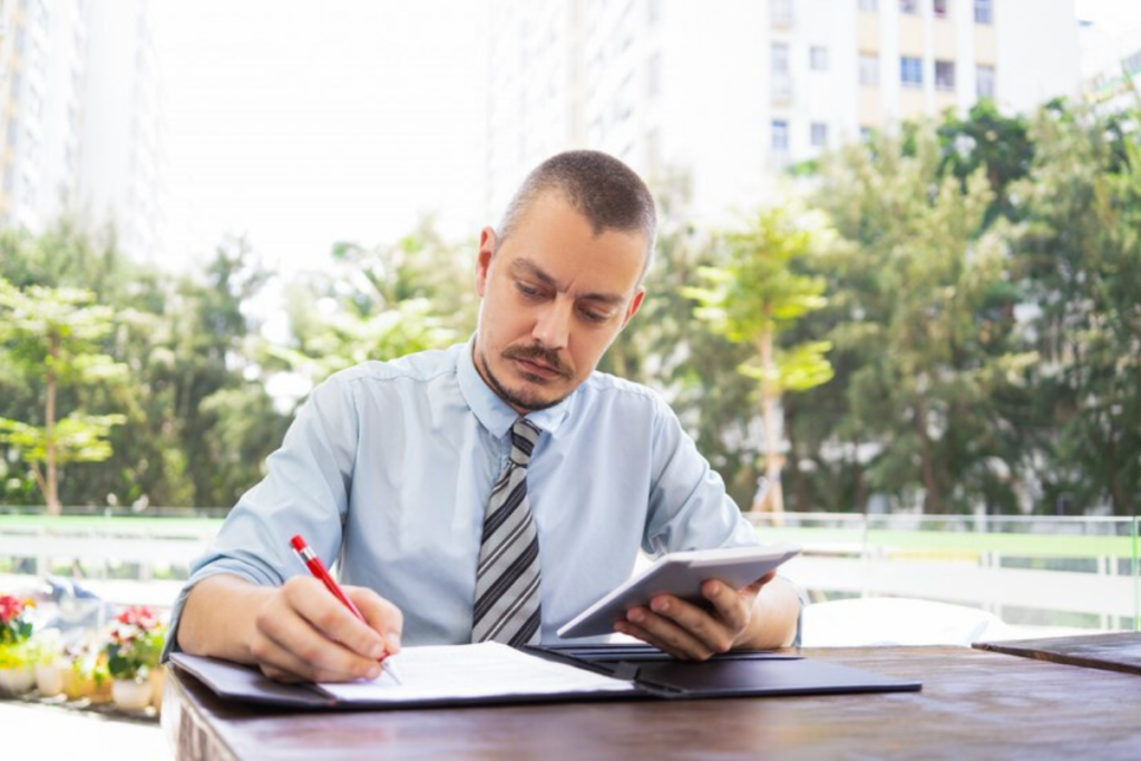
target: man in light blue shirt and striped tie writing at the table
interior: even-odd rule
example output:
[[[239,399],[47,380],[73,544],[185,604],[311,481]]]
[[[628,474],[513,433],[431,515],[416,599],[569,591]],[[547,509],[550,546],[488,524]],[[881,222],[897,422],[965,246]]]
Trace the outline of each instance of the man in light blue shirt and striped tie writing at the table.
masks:
[[[659,554],[755,543],[652,391],[594,372],[638,311],[656,217],[620,161],[541,164],[476,261],[472,339],[338,373],[314,390],[176,604],[177,645],[272,678],[371,678],[404,643],[552,641]],[[363,623],[292,557],[337,558]],[[792,641],[772,575],[661,596],[615,630],[679,658]],[[173,645],[176,637],[171,638]]]

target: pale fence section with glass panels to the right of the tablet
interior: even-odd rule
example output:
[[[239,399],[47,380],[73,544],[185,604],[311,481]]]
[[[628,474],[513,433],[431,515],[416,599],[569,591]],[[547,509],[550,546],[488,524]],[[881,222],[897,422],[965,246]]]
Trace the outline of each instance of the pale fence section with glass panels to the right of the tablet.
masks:
[[[1136,518],[753,515],[796,542],[787,573],[817,600],[908,597],[1014,624],[1141,629]]]

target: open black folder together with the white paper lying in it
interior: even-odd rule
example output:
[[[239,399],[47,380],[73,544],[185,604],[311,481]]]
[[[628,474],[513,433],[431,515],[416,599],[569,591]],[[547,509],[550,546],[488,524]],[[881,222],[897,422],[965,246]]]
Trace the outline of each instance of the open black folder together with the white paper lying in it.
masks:
[[[915,681],[799,655],[734,651],[704,663],[647,646],[404,648],[372,681],[281,685],[251,666],[176,653],[220,697],[316,709],[410,709],[578,699],[693,699],[917,690]]]

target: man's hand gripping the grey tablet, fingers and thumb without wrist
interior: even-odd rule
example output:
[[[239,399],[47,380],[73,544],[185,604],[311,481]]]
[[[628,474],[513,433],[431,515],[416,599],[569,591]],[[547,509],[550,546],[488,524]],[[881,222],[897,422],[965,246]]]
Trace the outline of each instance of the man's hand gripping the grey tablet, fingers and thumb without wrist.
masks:
[[[715,578],[702,584],[709,607],[686,602],[672,594],[658,594],[648,606],[626,610],[626,620],[614,630],[636,637],[685,661],[707,661],[742,643],[758,622],[756,597],[776,572],[770,572],[739,590]]]

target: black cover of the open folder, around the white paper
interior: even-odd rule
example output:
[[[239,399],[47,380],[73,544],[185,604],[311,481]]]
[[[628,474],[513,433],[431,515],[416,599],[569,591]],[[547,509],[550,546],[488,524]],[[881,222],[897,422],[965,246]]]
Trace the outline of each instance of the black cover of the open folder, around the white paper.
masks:
[[[504,649],[505,648],[504,646]],[[832,663],[812,661],[794,654],[734,651],[697,663],[678,661],[648,646],[549,646],[525,647],[519,651],[533,657],[536,689],[513,689],[479,695],[446,689],[424,694],[415,685],[394,687],[383,696],[341,698],[323,691],[318,685],[282,685],[251,666],[175,653],[171,664],[193,674],[217,695],[268,705],[305,709],[381,710],[421,709],[460,705],[529,704],[604,699],[696,699],[759,697],[782,695],[828,695],[841,693],[884,693],[917,690],[920,682],[884,677]],[[518,656],[516,656],[518,661]],[[597,685],[542,691],[540,661],[555,662],[609,677],[609,688]],[[596,680],[610,681],[610,680]]]

